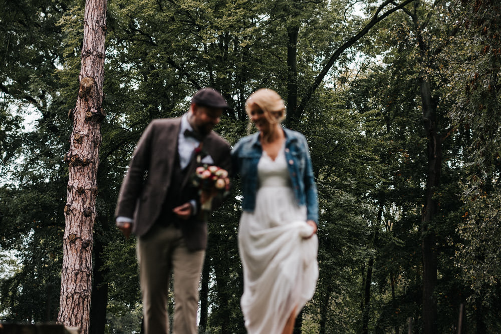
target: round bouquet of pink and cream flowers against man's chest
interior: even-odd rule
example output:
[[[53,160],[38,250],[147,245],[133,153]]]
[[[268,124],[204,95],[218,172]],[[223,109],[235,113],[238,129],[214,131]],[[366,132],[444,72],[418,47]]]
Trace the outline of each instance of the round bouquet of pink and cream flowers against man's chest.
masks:
[[[214,196],[225,196],[229,192],[228,172],[217,166],[200,166],[195,170],[193,185],[200,189],[200,194],[205,192],[208,195],[202,203],[202,210],[210,211]]]

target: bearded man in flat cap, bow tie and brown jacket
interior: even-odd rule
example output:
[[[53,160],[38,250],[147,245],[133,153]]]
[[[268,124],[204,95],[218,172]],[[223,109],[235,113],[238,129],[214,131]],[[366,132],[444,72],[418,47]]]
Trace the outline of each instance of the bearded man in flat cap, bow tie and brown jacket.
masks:
[[[167,293],[173,272],[175,334],[196,333],[198,283],[207,245],[207,222],[190,181],[199,164],[229,171],[230,149],[212,131],[228,109],[205,88],[181,118],[152,121],[137,143],[120,189],[116,224],[137,235],[146,334],[169,331]]]

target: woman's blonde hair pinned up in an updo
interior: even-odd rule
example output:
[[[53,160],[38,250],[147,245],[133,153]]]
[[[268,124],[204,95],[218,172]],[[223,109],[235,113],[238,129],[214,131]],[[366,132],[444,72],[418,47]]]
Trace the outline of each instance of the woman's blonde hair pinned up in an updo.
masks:
[[[249,130],[252,120],[250,118],[250,110],[254,105],[260,107],[263,113],[270,123],[270,130],[273,132],[275,130],[275,125],[282,123],[285,120],[285,103],[284,100],[272,89],[263,88],[257,90],[252,95],[249,96],[245,102],[245,111],[249,117]]]

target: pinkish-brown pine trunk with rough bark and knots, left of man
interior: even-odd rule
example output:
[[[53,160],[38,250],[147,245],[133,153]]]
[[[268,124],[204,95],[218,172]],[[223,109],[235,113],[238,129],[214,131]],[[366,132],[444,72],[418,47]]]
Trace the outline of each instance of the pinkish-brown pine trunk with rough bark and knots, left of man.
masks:
[[[80,89],[73,120],[69,164],[66,228],[63,240],[63,269],[58,320],[89,332],[92,281],[92,230],[96,219],[97,168],[104,118],[103,74],[107,0],[87,0]]]

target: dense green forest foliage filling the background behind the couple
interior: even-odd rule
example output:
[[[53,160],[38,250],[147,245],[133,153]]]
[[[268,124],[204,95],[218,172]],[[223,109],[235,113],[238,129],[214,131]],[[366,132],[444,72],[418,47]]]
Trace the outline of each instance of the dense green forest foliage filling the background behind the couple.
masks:
[[[146,125],[182,115],[189,97],[211,86],[233,107],[215,130],[234,144],[247,134],[250,93],[268,87],[288,97],[291,28],[298,31],[301,97],[378,4],[365,1],[357,12],[348,1],[108,3],[107,116],[94,233],[94,286],[108,288],[103,330],[140,330],[135,242],[124,241],[113,212]],[[0,270],[10,268],[0,276],[2,320],[53,321],[57,315],[67,183],[62,157],[78,89],[84,6],[80,0],[0,4],[6,42],[0,43]],[[425,24],[416,26],[409,13]],[[295,120],[310,145],[321,211],[320,277],[303,313],[303,332],[359,333],[364,321],[371,333],[404,332],[408,317],[421,330],[423,77],[438,101],[443,137],[432,222],[438,327],[449,332],[465,303],[469,332],[498,328],[498,14],[488,0],[416,1],[343,53]],[[209,225],[206,332],[244,332],[238,179],[234,183],[234,198]]]

